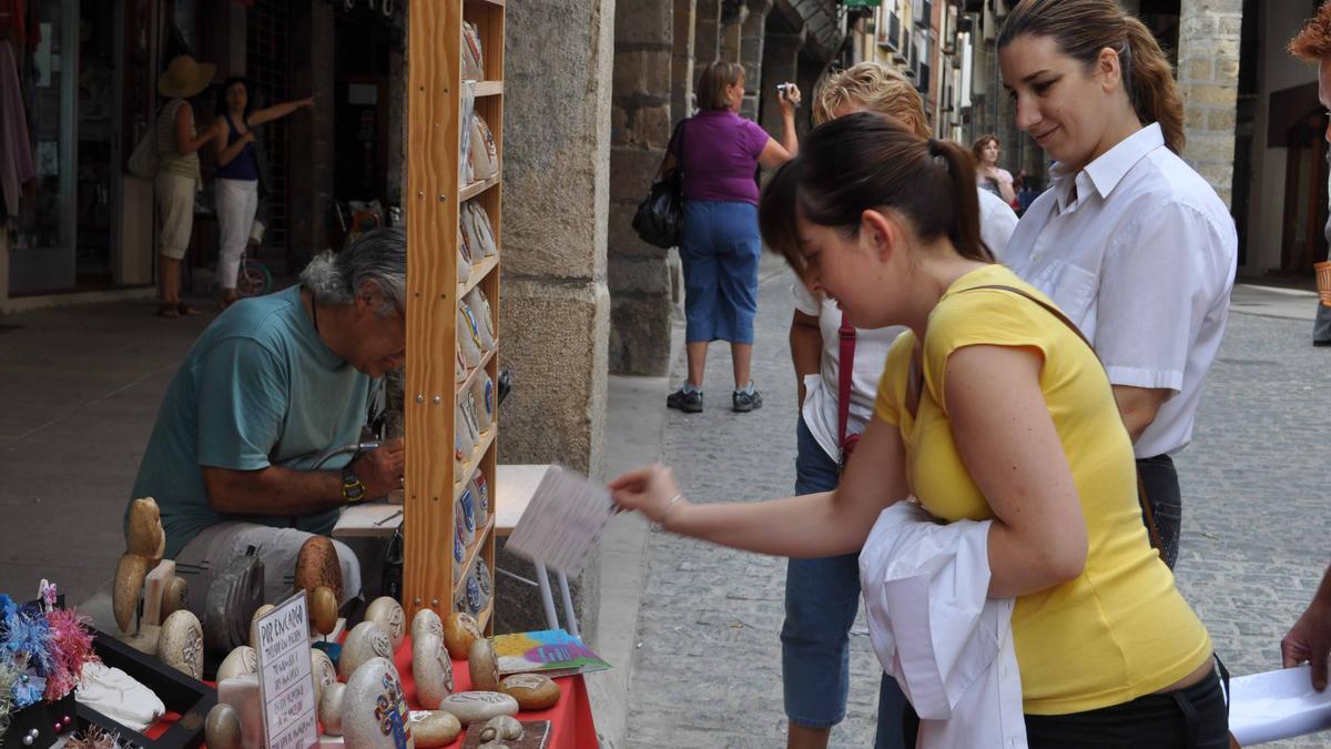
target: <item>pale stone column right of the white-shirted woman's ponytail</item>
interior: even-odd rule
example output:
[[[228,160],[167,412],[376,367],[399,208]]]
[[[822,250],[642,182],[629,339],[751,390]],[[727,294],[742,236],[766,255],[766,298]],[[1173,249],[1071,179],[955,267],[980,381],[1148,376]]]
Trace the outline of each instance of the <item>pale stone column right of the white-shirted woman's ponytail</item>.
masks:
[[[1242,27],[1243,0],[1183,0],[1178,35],[1178,83],[1187,135],[1183,160],[1226,205],[1234,192]]]

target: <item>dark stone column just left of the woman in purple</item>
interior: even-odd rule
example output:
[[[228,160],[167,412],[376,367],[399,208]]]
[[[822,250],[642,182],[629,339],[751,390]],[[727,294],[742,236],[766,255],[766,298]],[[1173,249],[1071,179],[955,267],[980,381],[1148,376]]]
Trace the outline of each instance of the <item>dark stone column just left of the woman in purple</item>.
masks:
[[[669,368],[667,251],[639,240],[631,223],[669,143],[675,21],[672,3],[616,3],[608,237],[610,371],[616,374]]]

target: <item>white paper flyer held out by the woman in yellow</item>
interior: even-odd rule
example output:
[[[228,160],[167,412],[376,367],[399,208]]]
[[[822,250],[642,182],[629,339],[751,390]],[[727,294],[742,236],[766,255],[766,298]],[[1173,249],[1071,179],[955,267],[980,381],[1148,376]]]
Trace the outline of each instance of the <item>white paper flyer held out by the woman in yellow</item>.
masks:
[[[551,465],[504,548],[576,577],[611,517],[615,502],[608,489],[576,470]]]

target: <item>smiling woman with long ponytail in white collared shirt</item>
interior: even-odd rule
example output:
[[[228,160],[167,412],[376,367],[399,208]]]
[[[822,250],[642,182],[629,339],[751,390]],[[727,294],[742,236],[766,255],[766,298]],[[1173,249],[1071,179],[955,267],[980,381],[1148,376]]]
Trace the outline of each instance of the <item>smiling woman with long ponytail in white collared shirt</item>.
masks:
[[[1017,127],[1057,161],[998,257],[1081,327],[1109,371],[1165,562],[1238,255],[1215,191],[1179,159],[1183,107],[1155,37],[1114,0],[1022,0],[998,33]],[[1149,512],[1147,512],[1149,508]]]

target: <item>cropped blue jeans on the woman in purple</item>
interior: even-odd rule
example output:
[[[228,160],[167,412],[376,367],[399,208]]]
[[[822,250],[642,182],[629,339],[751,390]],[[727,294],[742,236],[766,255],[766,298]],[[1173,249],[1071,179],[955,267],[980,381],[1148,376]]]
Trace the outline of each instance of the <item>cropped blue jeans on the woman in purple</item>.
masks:
[[[716,200],[684,201],[684,340],[753,343],[757,315],[757,207]]]

